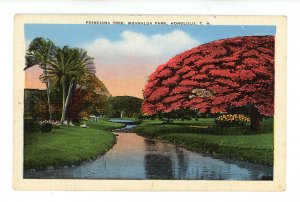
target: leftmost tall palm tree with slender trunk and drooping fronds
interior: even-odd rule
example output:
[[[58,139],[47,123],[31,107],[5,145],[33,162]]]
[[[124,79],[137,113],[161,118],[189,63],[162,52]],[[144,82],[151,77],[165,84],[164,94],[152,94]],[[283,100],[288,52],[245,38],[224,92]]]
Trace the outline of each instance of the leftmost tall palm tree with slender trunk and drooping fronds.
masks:
[[[53,59],[56,51],[55,44],[49,39],[37,37],[31,41],[26,52],[26,66],[28,69],[34,65],[38,65],[44,72],[44,82],[46,83],[47,101],[49,108],[49,119],[52,120],[51,103],[50,103],[50,80],[48,78],[48,64]]]

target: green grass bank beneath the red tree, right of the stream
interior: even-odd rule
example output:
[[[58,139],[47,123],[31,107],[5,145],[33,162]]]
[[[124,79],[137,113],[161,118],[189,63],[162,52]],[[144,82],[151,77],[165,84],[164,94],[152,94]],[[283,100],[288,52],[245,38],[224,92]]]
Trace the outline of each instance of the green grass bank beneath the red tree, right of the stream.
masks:
[[[249,126],[217,127],[214,119],[174,121],[172,124],[146,120],[135,132],[215,157],[273,165],[272,119],[264,120],[259,132],[251,131]]]

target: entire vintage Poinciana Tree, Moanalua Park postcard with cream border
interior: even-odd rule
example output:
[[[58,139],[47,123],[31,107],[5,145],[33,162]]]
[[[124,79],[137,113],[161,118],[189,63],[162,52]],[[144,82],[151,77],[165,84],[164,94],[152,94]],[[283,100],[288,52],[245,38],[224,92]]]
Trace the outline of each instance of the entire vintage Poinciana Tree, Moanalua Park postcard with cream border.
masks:
[[[17,190],[285,190],[286,17],[16,15]]]

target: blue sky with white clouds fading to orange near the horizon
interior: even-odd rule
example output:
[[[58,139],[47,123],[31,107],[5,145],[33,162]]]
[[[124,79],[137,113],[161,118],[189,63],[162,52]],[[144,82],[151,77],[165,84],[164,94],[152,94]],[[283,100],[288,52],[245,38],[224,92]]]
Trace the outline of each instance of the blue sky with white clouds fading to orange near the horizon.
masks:
[[[96,75],[113,96],[142,98],[157,66],[181,52],[218,39],[275,35],[275,26],[26,24],[26,47],[35,37],[57,46],[84,48],[95,58]],[[25,88],[45,89],[41,69],[25,72]]]

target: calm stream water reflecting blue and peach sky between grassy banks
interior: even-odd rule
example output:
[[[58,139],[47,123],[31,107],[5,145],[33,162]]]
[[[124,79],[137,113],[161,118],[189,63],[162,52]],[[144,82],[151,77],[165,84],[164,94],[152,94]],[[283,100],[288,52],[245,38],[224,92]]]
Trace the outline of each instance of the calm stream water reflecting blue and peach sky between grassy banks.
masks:
[[[95,161],[24,172],[24,178],[55,179],[272,180],[272,176],[272,167],[202,156],[134,133],[119,133],[117,144]]]

